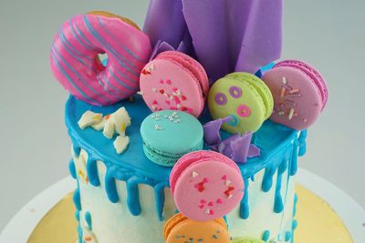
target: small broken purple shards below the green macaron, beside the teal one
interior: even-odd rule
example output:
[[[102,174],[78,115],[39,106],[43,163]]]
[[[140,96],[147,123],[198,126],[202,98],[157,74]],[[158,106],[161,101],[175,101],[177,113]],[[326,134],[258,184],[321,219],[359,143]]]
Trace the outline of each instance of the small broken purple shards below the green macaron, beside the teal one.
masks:
[[[247,162],[247,157],[260,156],[260,149],[251,144],[252,132],[245,133],[245,135],[235,134],[222,141],[220,128],[231,118],[231,116],[227,116],[203,125],[205,145],[230,157],[236,163]]]

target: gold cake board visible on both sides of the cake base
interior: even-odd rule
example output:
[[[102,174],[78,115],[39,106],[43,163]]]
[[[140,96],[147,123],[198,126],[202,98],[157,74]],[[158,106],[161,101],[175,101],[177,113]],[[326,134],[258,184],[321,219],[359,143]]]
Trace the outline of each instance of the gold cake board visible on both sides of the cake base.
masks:
[[[295,243],[353,243],[349,230],[327,202],[300,185],[296,191],[299,199]],[[71,192],[39,221],[27,243],[76,242],[74,212]]]

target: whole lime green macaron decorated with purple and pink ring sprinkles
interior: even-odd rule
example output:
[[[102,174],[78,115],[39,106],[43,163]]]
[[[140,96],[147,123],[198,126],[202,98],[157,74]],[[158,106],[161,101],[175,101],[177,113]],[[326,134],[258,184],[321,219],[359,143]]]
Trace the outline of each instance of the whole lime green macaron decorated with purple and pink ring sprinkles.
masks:
[[[255,132],[271,115],[274,99],[270,89],[257,76],[233,73],[217,80],[211,87],[208,106],[214,119],[232,116],[223,125],[229,133]]]

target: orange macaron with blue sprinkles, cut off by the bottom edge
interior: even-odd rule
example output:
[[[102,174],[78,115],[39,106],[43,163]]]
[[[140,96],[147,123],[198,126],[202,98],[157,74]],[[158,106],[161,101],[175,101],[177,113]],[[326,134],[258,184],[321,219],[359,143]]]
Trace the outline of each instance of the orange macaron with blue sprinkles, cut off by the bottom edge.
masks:
[[[198,222],[186,218],[178,222],[166,237],[166,243],[185,242],[230,243],[231,241],[226,226],[216,220]]]

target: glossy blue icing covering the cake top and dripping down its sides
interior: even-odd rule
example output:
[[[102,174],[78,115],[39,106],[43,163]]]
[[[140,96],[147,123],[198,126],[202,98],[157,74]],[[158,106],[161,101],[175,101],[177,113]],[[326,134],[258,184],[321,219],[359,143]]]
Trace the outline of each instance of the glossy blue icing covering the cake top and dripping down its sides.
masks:
[[[128,110],[132,123],[127,129],[130,146],[123,154],[118,155],[113,147],[112,139],[104,137],[101,132],[91,127],[81,130],[78,127],[78,119],[87,110],[105,116],[115,112],[120,106],[125,106]],[[172,167],[158,166],[144,156],[140,127],[143,119],[149,114],[151,114],[151,111],[145,106],[141,96],[135,96],[135,101],[132,103],[125,100],[113,106],[91,106],[70,96],[66,104],[66,125],[68,134],[72,138],[75,154],[78,156],[80,147],[88,152],[87,172],[91,185],[99,186],[98,168],[95,161],[101,160],[107,168],[105,189],[110,202],[117,203],[120,201],[115,180],[125,181],[128,190],[125,199],[130,213],[139,215],[141,214],[141,205],[138,184],[149,185],[155,191],[158,217],[163,219],[163,188],[169,187],[169,176]],[[202,118],[202,122],[207,120],[209,118],[206,116]],[[223,133],[223,137],[227,136]],[[287,157],[287,153],[291,152],[287,149],[287,146],[291,145],[296,137],[297,131],[267,120],[255,133],[253,139],[255,146],[261,149],[261,156],[249,158],[247,163],[238,165],[246,181],[246,186],[248,186],[249,178],[265,168],[268,175],[264,179],[263,189],[268,191],[272,187],[272,175],[275,174],[276,168],[279,167],[283,157]],[[245,197],[241,202],[243,207],[241,208],[242,218],[248,218],[249,215],[247,198],[248,194],[245,193]]]

